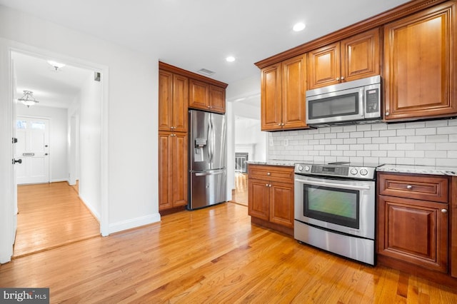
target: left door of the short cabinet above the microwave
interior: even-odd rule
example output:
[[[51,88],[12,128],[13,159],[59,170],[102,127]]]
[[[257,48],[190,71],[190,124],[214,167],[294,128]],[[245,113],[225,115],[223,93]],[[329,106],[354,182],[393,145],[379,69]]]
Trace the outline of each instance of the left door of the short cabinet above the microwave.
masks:
[[[340,82],[340,44],[329,44],[308,53],[308,90]]]

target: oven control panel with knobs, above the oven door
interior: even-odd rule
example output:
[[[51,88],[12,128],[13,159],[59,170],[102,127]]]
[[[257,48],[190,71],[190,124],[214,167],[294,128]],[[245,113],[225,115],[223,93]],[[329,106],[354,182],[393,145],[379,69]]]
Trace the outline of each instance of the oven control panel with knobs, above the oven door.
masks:
[[[334,166],[296,163],[295,173],[301,175],[336,176],[341,178],[374,179],[376,168],[364,166]]]

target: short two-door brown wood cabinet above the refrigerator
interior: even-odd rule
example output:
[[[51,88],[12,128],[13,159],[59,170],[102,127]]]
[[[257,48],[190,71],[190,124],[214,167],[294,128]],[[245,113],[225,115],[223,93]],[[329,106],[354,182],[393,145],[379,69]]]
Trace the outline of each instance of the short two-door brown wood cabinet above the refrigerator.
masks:
[[[204,81],[190,79],[189,108],[216,113],[226,112],[226,90]]]

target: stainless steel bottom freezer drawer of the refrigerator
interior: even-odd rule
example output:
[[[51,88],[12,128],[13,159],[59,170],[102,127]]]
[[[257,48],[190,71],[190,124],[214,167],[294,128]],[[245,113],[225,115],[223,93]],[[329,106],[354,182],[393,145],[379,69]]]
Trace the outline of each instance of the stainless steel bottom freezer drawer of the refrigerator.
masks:
[[[188,209],[198,209],[226,201],[226,169],[191,172]]]

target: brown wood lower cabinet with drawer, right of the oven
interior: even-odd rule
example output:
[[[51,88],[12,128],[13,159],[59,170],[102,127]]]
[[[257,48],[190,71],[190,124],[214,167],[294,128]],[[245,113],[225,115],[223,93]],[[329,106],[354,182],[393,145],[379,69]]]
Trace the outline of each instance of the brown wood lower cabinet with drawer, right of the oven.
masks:
[[[452,181],[448,176],[378,173],[378,263],[457,286],[451,278],[457,263]]]

